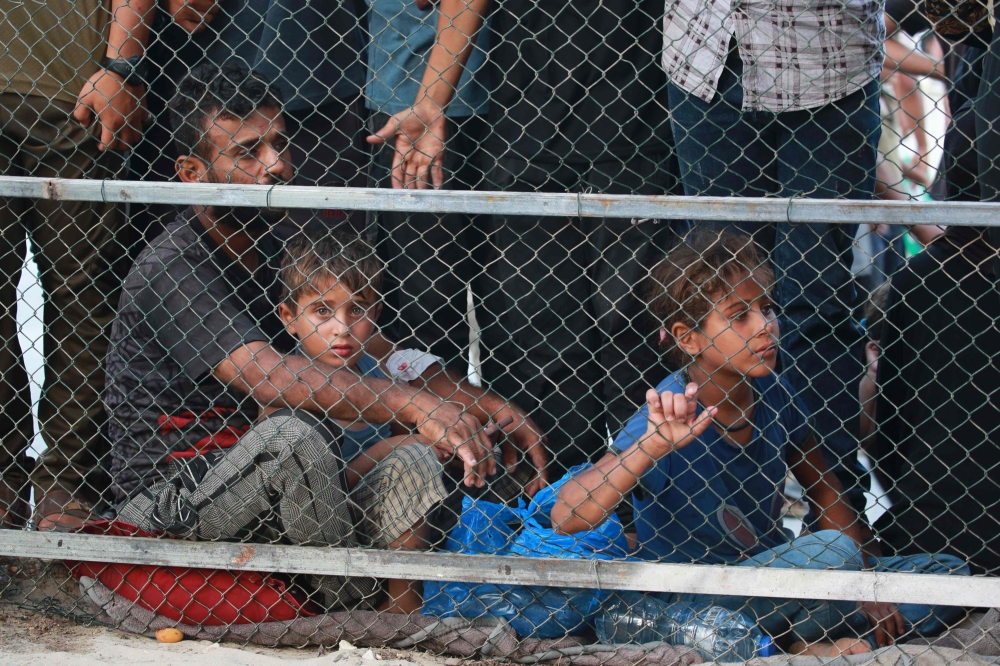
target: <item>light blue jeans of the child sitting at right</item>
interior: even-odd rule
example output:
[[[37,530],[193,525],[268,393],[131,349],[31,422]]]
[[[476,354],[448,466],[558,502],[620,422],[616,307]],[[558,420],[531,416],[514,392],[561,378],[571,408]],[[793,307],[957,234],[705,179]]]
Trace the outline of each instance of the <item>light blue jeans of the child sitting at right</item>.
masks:
[[[824,530],[764,551],[739,566],[860,571],[863,561],[861,552],[850,538],[840,532]],[[879,560],[874,570],[969,575],[968,565],[953,555],[886,557]],[[761,631],[768,636],[791,635],[808,643],[834,640],[849,634],[865,634],[869,629],[868,621],[858,613],[858,605],[854,601],[715,597],[706,594],[675,594],[670,596],[669,601],[711,603],[738,610],[756,620]],[[907,632],[914,631],[922,636],[940,633],[962,614],[961,608],[924,604],[901,604],[899,611]]]

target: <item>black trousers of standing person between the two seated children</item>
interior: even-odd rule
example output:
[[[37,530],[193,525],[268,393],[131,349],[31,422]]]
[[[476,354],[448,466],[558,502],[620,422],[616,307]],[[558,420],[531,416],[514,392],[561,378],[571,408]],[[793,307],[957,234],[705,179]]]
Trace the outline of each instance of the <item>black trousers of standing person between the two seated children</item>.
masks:
[[[663,194],[666,160],[584,165],[501,158],[489,188]],[[495,216],[480,294],[483,374],[548,435],[551,477],[599,458],[663,378],[641,289],[672,239],[667,221]]]

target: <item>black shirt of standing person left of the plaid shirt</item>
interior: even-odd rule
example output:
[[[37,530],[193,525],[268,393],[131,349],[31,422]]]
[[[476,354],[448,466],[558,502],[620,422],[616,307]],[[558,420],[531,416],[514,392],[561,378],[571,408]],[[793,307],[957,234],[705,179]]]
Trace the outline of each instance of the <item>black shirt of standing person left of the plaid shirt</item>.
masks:
[[[495,2],[490,152],[557,164],[661,152],[662,18],[658,0]]]

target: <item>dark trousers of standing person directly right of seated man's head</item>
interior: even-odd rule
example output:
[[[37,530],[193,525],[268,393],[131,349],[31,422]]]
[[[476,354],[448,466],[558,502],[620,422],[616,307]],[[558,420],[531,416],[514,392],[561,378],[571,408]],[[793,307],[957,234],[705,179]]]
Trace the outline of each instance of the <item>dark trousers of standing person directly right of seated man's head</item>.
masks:
[[[285,111],[296,185],[323,187],[365,187],[368,183],[370,154],[365,142],[364,100],[355,97],[331,100],[321,106]],[[291,238],[302,229],[324,229],[350,223],[361,232],[365,228],[363,210],[295,208],[289,222],[278,233]]]

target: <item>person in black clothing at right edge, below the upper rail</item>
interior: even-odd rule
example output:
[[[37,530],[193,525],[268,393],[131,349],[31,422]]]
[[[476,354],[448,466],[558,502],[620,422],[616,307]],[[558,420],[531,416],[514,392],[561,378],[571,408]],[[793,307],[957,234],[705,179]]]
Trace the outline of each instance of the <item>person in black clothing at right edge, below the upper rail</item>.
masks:
[[[985,229],[949,227],[892,277],[881,324],[875,442],[892,506],[885,550],[952,553],[1000,574],[1000,298]]]

